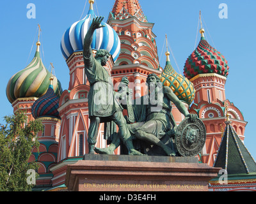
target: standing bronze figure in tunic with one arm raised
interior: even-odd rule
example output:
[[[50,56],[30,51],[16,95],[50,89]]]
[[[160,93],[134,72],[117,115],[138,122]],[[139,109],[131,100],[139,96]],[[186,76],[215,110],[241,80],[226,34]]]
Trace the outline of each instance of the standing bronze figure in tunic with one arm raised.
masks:
[[[127,147],[129,154],[141,155],[134,150],[131,134],[127,128],[127,123],[122,113],[122,106],[117,98],[120,94],[113,90],[113,83],[108,71],[104,68],[110,56],[107,50],[98,50],[95,57],[92,53],[93,33],[96,29],[104,27],[100,25],[104,17],[93,19],[92,24],[84,38],[83,58],[84,71],[90,82],[88,94],[88,108],[90,117],[90,127],[88,130],[89,154],[94,154],[95,143],[99,132],[100,122],[113,121],[119,128],[119,136]]]

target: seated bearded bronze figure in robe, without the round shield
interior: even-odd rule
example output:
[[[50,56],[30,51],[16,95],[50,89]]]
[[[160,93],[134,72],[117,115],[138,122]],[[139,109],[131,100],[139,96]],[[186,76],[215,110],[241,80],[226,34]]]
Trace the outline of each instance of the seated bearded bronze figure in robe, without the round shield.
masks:
[[[187,108],[173,93],[172,89],[166,86],[163,87],[157,75],[148,75],[147,84],[149,85],[149,93],[142,96],[139,100],[136,99],[134,101],[136,123],[128,124],[129,131],[134,138],[143,140],[150,145],[160,147],[167,156],[175,156],[175,150],[161,141],[164,136],[170,137],[175,135],[175,128],[177,128],[172,117],[171,102],[173,102],[179,111],[185,115],[185,117],[188,117],[191,122],[197,119],[197,115],[189,114]],[[113,151],[118,145],[120,145],[120,140],[115,138],[108,148],[95,148],[95,152],[99,154],[113,154]],[[143,153],[147,154],[147,152]],[[154,152],[154,154],[157,153],[158,152]]]

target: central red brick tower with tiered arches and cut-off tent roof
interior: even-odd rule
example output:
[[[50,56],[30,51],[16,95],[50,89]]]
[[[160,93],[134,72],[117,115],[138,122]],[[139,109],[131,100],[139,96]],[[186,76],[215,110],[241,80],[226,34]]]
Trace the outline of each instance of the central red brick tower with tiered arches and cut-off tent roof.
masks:
[[[128,77],[134,98],[146,93],[150,73],[161,74],[157,55],[154,24],[148,22],[138,0],[116,0],[109,13],[108,24],[121,41],[120,55],[111,71],[115,88],[122,77]]]

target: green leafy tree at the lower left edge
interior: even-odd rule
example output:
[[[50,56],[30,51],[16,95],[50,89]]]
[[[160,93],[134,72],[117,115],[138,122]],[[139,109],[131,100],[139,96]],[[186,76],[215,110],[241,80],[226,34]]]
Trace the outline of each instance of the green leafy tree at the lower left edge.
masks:
[[[26,112],[22,110],[5,116],[4,121],[6,124],[0,124],[0,191],[31,191],[33,185],[27,182],[27,172],[36,171],[38,163],[28,160],[32,148],[39,147],[36,134],[42,131],[42,122],[27,124]]]

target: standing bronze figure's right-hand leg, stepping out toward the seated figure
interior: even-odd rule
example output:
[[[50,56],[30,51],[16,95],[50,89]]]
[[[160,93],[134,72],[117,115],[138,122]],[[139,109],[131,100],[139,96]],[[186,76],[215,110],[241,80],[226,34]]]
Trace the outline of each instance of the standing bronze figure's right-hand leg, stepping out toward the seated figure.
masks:
[[[127,147],[129,154],[130,155],[143,155],[143,154],[141,154],[141,152],[138,152],[137,150],[134,149],[134,146],[132,143],[132,136],[127,127],[127,123],[126,123],[123,113],[116,112],[113,115],[112,119],[117,124],[117,126],[119,128],[120,139]]]

